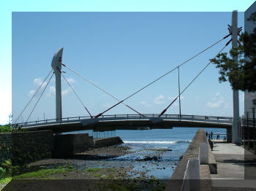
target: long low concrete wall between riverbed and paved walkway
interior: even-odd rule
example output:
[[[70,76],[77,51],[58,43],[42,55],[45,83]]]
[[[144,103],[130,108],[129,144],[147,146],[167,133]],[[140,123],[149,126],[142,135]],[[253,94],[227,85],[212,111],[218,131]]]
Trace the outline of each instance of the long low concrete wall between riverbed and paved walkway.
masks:
[[[184,175],[185,171],[187,170],[187,163],[189,160],[195,159],[200,157],[199,147],[200,144],[208,144],[208,140],[206,138],[205,131],[203,129],[198,129],[197,133],[195,134],[192,142],[189,144],[187,151],[185,152],[184,156],[182,157],[181,161],[178,163],[176,170],[173,172],[173,176],[171,177],[170,181],[167,183],[167,187],[165,190],[172,190],[172,191],[181,191],[182,184],[184,182]],[[209,147],[209,144],[208,144]],[[217,169],[215,168],[216,161],[211,153],[211,149],[208,149],[208,166],[211,168],[211,173],[217,173]],[[200,160],[200,159],[199,159]],[[215,164],[215,165],[214,165]],[[200,164],[199,164],[200,165]],[[204,165],[200,165],[199,168],[204,167]],[[204,179],[202,176],[210,176],[210,168],[207,167],[207,171],[204,174],[200,175],[200,179]],[[209,183],[211,186],[211,183]],[[206,189],[207,190],[207,189]]]

